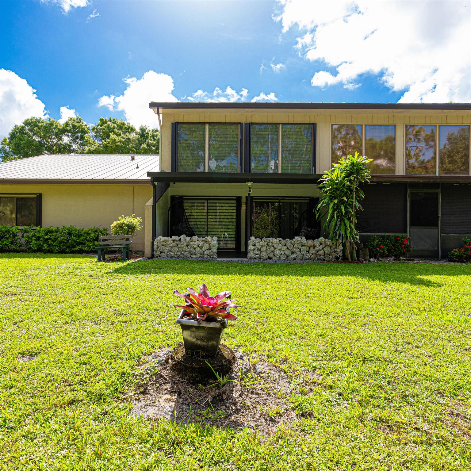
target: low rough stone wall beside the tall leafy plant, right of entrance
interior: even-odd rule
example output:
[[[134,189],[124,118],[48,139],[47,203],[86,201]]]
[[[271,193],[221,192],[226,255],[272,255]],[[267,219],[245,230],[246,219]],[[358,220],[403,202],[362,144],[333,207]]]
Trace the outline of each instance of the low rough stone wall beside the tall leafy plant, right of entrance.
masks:
[[[247,251],[247,258],[261,260],[335,260],[336,256],[342,256],[341,244],[324,237],[316,240],[251,237]]]

